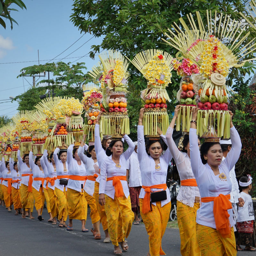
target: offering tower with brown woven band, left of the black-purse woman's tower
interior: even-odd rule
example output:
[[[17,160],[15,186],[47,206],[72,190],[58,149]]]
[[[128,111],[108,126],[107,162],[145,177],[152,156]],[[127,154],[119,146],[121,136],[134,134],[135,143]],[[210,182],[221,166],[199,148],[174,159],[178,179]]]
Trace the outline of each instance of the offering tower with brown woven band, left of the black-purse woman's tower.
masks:
[[[108,51],[99,55],[100,63],[89,72],[98,79],[102,89],[103,114],[100,121],[102,135],[112,135],[112,139],[121,139],[121,134],[130,134],[129,117],[127,113],[127,71],[128,60],[118,51]]]

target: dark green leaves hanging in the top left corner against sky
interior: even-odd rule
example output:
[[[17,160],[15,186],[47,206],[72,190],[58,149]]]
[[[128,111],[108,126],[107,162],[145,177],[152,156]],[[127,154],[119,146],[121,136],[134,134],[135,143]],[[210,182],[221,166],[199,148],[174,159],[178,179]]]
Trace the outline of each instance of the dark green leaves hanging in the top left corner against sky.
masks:
[[[15,22],[17,25],[18,23],[16,22],[16,20],[14,20],[11,15],[10,15],[10,12],[11,11],[16,11],[18,12],[17,9],[14,9],[14,8],[9,8],[10,5],[18,5],[18,7],[20,7],[22,10],[26,8],[26,5],[21,1],[21,0],[0,0],[0,25],[3,26],[4,28],[6,28],[6,24],[4,22],[4,20],[2,19],[3,18],[6,18],[7,20],[10,20],[10,23],[11,23],[11,29],[13,28],[13,23],[12,22]]]

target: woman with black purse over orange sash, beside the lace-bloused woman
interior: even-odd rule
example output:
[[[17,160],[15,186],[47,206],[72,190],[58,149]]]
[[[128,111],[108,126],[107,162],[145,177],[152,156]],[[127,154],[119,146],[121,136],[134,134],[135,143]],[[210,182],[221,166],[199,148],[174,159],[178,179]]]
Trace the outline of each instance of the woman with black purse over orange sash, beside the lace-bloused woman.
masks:
[[[159,256],[165,255],[161,244],[171,210],[171,197],[166,186],[166,175],[172,154],[167,148],[162,155],[163,145],[160,140],[148,140],[145,147],[143,113],[144,108],[141,108],[137,151],[142,181],[140,213],[149,236],[148,256]]]

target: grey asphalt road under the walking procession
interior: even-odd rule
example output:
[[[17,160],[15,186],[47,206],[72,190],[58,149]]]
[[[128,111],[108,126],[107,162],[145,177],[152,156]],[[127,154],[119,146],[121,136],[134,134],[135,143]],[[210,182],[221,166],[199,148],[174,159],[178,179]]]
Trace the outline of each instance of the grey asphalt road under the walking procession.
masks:
[[[88,211],[86,228],[90,230],[92,222],[89,214]],[[0,216],[0,255],[114,255],[114,246],[111,243],[103,243],[105,237],[101,226],[102,239],[94,240],[91,232],[81,232],[79,220],[73,220],[73,231],[67,231],[65,228],[59,228],[58,225],[48,223],[49,215],[46,209],[43,211],[44,221],[41,222],[36,219],[36,211],[34,211],[35,220],[22,219],[21,215],[15,216],[14,211],[7,212],[2,206],[0,206]],[[127,241],[129,251],[123,255],[147,255],[148,235],[143,223],[133,225]],[[166,228],[162,248],[167,255],[181,255],[178,229]],[[254,252],[238,252],[237,255],[248,256],[248,254],[255,255]]]

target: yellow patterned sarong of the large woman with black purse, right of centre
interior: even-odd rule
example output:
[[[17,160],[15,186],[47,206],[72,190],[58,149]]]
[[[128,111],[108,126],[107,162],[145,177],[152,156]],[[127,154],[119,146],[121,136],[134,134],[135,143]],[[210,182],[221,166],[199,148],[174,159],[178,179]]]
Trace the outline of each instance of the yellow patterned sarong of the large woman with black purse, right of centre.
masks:
[[[140,198],[140,209],[142,209],[143,199]],[[165,255],[162,250],[162,237],[170,217],[171,202],[161,207],[161,202],[152,204],[152,211],[142,213],[141,217],[145,224],[149,236],[149,252],[151,256]]]

